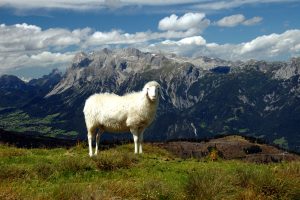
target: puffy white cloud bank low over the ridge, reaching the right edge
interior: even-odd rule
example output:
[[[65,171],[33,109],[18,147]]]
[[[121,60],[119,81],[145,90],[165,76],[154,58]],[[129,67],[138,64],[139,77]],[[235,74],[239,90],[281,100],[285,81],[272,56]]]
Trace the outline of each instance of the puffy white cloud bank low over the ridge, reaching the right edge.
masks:
[[[257,37],[249,42],[240,44],[216,43],[183,43],[165,40],[150,45],[148,50],[165,51],[184,56],[212,56],[227,60],[288,59],[291,56],[300,56],[300,30],[288,30],[282,34],[270,34]],[[203,39],[204,40],[204,39]],[[186,38],[186,41],[190,41]],[[204,40],[205,41],[205,40]]]

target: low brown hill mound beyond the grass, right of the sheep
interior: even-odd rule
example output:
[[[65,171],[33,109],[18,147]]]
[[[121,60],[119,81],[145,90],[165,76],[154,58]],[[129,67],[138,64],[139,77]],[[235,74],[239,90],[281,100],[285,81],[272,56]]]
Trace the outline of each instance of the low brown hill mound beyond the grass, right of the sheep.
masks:
[[[254,138],[231,135],[202,142],[174,141],[160,143],[157,146],[184,159],[214,156],[214,159],[235,159],[256,163],[300,160],[299,155],[258,142]]]

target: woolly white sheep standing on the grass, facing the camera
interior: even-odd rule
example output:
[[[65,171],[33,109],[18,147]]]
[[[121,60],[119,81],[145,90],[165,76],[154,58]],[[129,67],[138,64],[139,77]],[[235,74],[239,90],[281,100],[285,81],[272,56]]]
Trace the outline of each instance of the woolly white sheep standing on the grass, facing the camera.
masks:
[[[93,156],[94,136],[97,155],[100,136],[104,131],[114,133],[130,131],[134,140],[134,153],[142,153],[143,132],[154,120],[159,93],[162,95],[160,85],[156,81],[151,81],[142,91],[124,96],[110,93],[90,96],[83,109],[88,131],[89,155]]]

